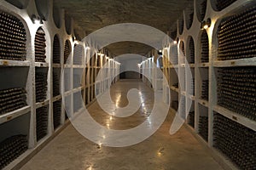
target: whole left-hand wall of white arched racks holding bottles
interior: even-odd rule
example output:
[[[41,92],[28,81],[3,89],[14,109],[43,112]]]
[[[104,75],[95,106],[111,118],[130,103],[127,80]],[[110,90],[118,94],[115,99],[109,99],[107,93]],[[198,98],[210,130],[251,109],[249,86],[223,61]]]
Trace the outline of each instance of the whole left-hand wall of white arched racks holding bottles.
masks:
[[[94,53],[92,48],[85,42],[75,46],[73,32],[67,35],[65,26],[52,29],[53,20],[33,23],[27,16],[37,8],[34,2],[29,3],[26,9],[14,8],[8,1],[0,4],[0,169],[20,168],[40,146],[60,133],[69,122],[65,109],[79,111],[83,107],[76,101],[79,96],[86,106],[92,104],[96,98],[92,80],[102,69],[102,58],[108,74],[98,82],[99,93],[111,86],[104,82],[118,81],[114,77],[119,63],[106,59],[111,57],[106,51],[90,65],[86,59]],[[65,76],[66,70],[70,74]],[[79,77],[79,71],[86,74]],[[73,107],[66,108],[62,101]]]

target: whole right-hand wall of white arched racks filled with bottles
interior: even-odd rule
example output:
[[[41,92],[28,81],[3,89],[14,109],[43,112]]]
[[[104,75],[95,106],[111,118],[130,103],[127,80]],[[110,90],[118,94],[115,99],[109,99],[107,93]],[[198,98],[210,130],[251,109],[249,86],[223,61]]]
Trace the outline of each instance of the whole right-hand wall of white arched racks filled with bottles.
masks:
[[[220,165],[254,169],[256,3],[195,0],[193,11],[193,17],[191,12],[183,13],[184,23],[196,19],[190,28],[179,34],[177,21],[177,32],[171,34],[177,42],[167,42],[163,47],[168,51],[164,72],[170,88],[163,94],[170,97],[165,101],[173,112],[187,116],[191,132],[213,150]],[[203,26],[207,19],[211,19],[210,25]],[[184,52],[187,63],[178,55]],[[181,76],[185,81],[178,79]],[[166,89],[165,83],[163,86]],[[186,108],[186,113],[180,113],[184,110],[178,109],[178,104]]]

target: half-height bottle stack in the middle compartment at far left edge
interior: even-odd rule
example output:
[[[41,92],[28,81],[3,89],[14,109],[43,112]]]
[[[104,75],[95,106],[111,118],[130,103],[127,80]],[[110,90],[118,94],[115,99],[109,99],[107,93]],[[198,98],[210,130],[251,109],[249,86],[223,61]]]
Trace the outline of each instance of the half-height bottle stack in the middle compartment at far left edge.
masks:
[[[0,115],[15,111],[26,105],[26,90],[24,88],[0,90]]]

